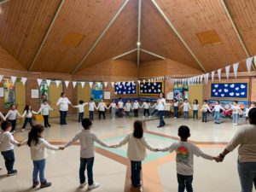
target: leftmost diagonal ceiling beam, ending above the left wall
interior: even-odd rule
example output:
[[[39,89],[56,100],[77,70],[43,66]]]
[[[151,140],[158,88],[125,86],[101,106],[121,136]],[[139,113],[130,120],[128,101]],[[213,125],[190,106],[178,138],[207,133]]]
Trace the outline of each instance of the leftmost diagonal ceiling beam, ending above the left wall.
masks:
[[[58,16],[58,15],[60,14],[60,12],[61,12],[61,8],[62,8],[64,2],[65,2],[65,0],[61,0],[61,1],[60,1],[59,6],[58,6],[58,8],[57,8],[56,11],[55,11],[55,15],[54,15],[53,19],[52,19],[51,22],[50,22],[49,28],[48,28],[47,32],[45,33],[45,35],[44,35],[44,39],[43,39],[42,43],[40,44],[40,47],[39,47],[39,49],[38,49],[38,52],[37,52],[36,56],[34,57],[31,66],[30,66],[29,69],[28,69],[29,72],[32,71],[32,67],[34,67],[35,62],[38,60],[38,56],[39,56],[41,50],[42,50],[43,47],[44,47],[44,44],[45,44],[45,42],[46,42],[46,39],[47,39],[48,36],[49,36],[49,32],[51,31],[52,27],[53,27],[54,24],[55,24],[55,20],[56,20],[57,16]]]

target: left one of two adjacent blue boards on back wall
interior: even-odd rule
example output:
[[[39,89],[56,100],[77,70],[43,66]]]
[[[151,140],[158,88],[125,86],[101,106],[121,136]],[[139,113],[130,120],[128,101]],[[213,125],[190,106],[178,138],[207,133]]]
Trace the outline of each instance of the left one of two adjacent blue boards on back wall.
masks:
[[[115,95],[134,95],[136,94],[136,84],[131,82],[120,82],[114,84]]]

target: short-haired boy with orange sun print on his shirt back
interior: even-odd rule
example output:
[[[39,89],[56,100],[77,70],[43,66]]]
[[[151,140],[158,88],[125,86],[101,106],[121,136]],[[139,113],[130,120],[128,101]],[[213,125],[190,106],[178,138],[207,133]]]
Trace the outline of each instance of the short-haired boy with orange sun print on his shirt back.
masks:
[[[206,160],[218,160],[218,158],[204,154],[200,148],[188,142],[188,137],[190,137],[188,126],[182,125],[178,128],[178,137],[180,137],[180,142],[173,143],[170,147],[163,148],[161,151],[169,151],[170,153],[176,151],[178,192],[183,192],[185,189],[193,192],[194,155],[201,156]]]

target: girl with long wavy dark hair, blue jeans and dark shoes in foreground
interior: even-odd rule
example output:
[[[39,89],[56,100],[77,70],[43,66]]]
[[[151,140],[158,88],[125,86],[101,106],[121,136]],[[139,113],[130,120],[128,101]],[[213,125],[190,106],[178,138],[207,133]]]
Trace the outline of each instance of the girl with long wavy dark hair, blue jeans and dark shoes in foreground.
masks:
[[[51,183],[47,182],[46,178],[44,178],[44,167],[47,157],[46,148],[51,150],[59,150],[62,148],[57,148],[44,140],[43,125],[33,125],[32,130],[28,133],[27,141],[23,142],[22,145],[23,144],[27,144],[30,147],[31,159],[33,161],[34,169],[32,173],[32,188],[36,188],[39,184],[38,173],[41,183],[40,188],[42,189],[51,186]]]

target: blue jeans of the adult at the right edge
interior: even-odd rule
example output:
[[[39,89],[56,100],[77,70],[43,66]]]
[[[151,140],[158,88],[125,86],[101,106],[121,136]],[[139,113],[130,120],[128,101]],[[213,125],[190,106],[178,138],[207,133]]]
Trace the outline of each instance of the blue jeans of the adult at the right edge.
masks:
[[[237,163],[241,183],[241,192],[253,192],[256,189],[256,162]]]

